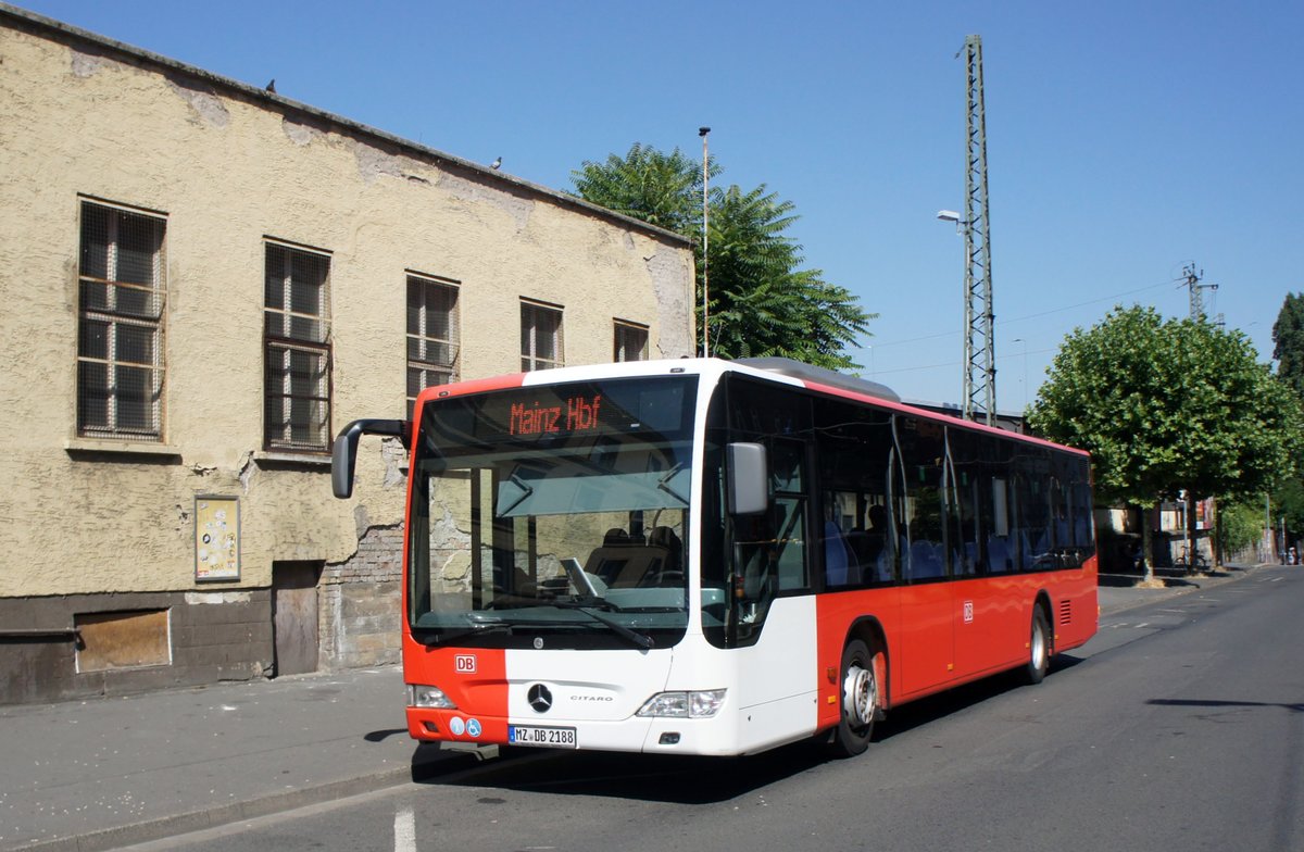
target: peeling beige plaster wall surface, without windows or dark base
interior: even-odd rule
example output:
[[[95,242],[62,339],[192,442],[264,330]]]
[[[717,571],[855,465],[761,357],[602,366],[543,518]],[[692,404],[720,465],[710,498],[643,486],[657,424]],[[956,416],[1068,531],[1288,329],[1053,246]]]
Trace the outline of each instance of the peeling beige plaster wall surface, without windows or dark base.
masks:
[[[171,455],[76,436],[78,209],[166,215]],[[692,260],[653,230],[274,95],[0,14],[0,598],[194,587],[194,497],[240,497],[243,577],[336,562],[403,510],[366,438],[352,501],[262,453],[265,237],[331,253],[333,429],[404,411],[406,270],[460,282],[464,378],[519,369],[519,299],[565,307],[569,364],[692,347]],[[102,451],[107,450],[107,451]]]

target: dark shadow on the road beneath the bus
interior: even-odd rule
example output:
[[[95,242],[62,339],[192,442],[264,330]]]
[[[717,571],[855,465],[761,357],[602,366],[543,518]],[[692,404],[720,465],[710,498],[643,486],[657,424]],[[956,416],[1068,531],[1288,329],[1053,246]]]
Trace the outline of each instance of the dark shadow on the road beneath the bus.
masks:
[[[1050,677],[1080,662],[1056,658]],[[1020,689],[1017,677],[998,675],[911,702],[875,725],[874,742],[902,736],[1016,689]],[[852,759],[872,761],[874,745]],[[739,758],[515,748],[480,761],[466,754],[439,753],[436,744],[421,744],[412,758],[412,780],[432,787],[708,805],[738,799],[828,763],[838,761],[815,741]]]

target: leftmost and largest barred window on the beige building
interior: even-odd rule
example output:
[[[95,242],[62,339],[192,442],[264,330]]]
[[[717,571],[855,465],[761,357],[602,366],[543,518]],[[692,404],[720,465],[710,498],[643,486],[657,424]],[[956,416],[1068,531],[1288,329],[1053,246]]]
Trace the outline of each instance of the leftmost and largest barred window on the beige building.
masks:
[[[156,215],[81,205],[77,434],[163,440],[163,234]]]

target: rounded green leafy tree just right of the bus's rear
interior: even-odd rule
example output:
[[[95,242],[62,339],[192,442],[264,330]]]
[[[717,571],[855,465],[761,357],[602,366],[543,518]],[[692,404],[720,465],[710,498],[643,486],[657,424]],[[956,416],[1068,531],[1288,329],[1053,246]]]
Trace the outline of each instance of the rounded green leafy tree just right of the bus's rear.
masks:
[[[1029,423],[1093,454],[1102,498],[1142,509],[1262,493],[1301,446],[1297,399],[1243,334],[1142,307],[1065,339]]]

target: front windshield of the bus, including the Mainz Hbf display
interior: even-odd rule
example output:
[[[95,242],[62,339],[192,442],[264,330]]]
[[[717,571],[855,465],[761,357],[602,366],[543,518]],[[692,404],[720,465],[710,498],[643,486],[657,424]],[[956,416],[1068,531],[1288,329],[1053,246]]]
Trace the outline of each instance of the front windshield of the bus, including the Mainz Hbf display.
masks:
[[[425,403],[408,624],[472,647],[665,647],[687,626],[690,377]]]

